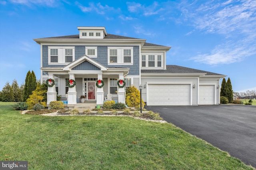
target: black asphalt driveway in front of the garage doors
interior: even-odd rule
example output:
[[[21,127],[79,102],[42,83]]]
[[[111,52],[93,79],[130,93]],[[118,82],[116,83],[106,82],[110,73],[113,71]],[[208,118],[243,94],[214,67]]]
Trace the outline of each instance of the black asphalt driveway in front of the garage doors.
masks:
[[[256,168],[256,106],[147,106],[165,121]]]

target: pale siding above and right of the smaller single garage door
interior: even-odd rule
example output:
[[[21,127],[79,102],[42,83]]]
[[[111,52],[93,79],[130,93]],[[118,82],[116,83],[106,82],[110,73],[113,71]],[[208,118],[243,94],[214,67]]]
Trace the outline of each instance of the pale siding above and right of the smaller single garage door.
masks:
[[[215,104],[219,104],[220,103],[220,87],[217,89],[217,86],[219,85],[219,79],[218,78],[200,78],[199,79],[199,88],[200,85],[214,85],[214,90],[215,90],[215,98],[216,98],[216,103]]]

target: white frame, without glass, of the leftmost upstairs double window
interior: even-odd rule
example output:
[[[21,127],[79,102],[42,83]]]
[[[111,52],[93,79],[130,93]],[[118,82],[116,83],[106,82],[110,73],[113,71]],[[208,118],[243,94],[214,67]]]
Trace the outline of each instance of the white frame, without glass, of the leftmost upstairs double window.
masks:
[[[51,50],[58,49],[58,63],[51,62]],[[65,61],[65,49],[72,49],[72,61],[75,60],[75,47],[74,46],[48,46],[48,64],[49,65],[63,65],[68,64]]]

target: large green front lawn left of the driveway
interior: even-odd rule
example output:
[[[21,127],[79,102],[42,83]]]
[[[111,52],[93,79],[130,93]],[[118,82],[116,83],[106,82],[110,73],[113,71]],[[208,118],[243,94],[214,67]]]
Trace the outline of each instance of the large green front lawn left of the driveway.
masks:
[[[36,170],[253,170],[170,123],[132,117],[21,115],[0,102],[0,160]]]

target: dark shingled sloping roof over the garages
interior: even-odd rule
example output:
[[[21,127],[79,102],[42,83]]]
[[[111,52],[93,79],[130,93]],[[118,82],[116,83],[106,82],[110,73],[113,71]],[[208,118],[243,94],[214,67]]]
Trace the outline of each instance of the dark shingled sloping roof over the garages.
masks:
[[[225,75],[214,73],[214,72],[197,70],[194,68],[188,68],[188,67],[177,66],[177,65],[166,65],[166,70],[141,70],[141,73],[205,74],[205,76],[226,77]]]

